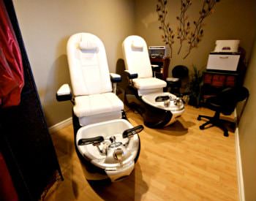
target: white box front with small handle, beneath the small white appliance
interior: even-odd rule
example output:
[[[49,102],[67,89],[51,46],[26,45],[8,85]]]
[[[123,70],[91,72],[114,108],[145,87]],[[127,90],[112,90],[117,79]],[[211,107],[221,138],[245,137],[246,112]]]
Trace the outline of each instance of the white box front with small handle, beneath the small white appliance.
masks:
[[[236,71],[240,55],[210,54],[206,69]]]

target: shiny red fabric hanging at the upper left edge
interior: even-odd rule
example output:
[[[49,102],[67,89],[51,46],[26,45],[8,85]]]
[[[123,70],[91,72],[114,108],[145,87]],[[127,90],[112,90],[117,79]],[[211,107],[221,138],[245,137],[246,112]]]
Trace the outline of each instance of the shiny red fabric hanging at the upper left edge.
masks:
[[[0,0],[0,107],[19,105],[23,85],[20,49],[4,2]]]

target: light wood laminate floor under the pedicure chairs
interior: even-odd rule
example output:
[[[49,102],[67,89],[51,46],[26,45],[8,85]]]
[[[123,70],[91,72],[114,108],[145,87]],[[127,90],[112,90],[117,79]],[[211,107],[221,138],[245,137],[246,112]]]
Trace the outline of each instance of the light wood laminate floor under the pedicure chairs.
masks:
[[[238,200],[235,135],[223,137],[216,127],[200,130],[203,121],[197,121],[198,114],[214,113],[187,106],[173,125],[145,127],[135,171],[116,183],[86,181],[75,153],[72,125],[52,134],[64,181],[45,200]],[[143,124],[131,110],[127,117],[134,126]]]

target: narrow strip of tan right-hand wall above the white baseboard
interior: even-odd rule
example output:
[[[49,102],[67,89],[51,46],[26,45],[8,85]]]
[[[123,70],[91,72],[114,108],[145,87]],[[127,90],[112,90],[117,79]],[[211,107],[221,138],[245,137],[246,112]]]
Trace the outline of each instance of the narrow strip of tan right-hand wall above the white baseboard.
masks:
[[[256,26],[256,23],[255,23]],[[256,37],[256,36],[255,36]],[[246,72],[244,86],[249,89],[249,99],[239,123],[239,141],[244,175],[246,201],[256,200],[256,39],[252,58]],[[242,105],[239,105],[242,106]]]

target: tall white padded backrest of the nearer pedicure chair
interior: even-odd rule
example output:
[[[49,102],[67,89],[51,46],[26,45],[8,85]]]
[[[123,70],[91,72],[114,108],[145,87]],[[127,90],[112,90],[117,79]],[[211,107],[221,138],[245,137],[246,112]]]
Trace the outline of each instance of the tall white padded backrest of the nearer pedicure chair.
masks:
[[[72,35],[67,42],[67,60],[75,96],[112,91],[105,47],[98,37]]]

